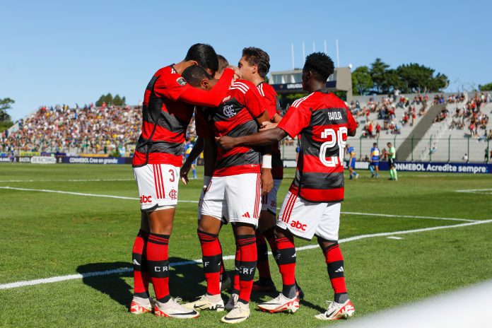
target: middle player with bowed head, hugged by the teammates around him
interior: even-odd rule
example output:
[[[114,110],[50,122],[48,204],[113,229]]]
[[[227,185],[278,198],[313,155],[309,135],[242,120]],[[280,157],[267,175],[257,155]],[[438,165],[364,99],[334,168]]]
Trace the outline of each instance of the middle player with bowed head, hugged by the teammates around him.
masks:
[[[192,86],[208,88],[215,83],[199,67],[190,67],[183,76]],[[235,81],[221,105],[198,110],[196,118],[197,133],[202,137],[209,136],[204,135],[206,126],[211,127],[216,137],[247,136],[257,132],[259,124],[269,120],[259,91],[246,80]],[[222,223],[233,223],[239,254],[236,262],[238,303],[222,318],[223,322],[241,322],[250,315],[248,304],[257,261],[254,230],[261,208],[260,172],[265,171],[261,163],[261,153],[249,146],[228,151],[218,149],[211,181],[200,204],[198,235],[203,252],[207,293],[185,306],[190,309],[223,310],[219,285],[221,249],[217,238]]]

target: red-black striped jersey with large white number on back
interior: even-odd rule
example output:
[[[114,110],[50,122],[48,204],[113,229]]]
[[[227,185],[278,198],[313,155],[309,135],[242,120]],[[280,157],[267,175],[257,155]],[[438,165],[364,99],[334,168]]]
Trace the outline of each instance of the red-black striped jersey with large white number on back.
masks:
[[[300,153],[289,189],[312,202],[344,200],[344,148],[357,124],[345,102],[333,93],[315,91],[295,100],[279,125],[295,138]]]

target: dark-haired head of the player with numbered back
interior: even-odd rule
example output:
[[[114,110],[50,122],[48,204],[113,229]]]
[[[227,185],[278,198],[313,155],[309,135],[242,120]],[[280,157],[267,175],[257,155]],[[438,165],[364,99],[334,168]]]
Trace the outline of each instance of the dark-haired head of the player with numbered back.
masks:
[[[303,67],[303,89],[314,91],[320,83],[326,83],[328,77],[333,74],[335,66],[332,59],[323,52],[313,52],[306,57]]]

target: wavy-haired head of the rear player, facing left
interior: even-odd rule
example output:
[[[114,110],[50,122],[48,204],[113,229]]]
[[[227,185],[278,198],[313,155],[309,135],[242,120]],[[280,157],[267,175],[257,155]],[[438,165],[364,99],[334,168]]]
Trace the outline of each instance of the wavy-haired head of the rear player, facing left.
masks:
[[[242,78],[252,81],[254,76],[265,79],[270,70],[270,56],[262,49],[246,47],[242,49],[242,56],[238,64]]]

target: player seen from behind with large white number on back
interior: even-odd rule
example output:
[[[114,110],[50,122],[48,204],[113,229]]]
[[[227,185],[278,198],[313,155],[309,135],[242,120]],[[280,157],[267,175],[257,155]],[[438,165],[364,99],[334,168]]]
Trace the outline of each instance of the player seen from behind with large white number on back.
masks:
[[[225,149],[279,142],[287,135],[300,135],[301,149],[295,179],[283,201],[276,225],[276,247],[282,275],[282,293],[259,308],[269,312],[298,310],[295,287],[295,247],[293,237],[310,240],[317,236],[334,289],[334,302],[320,320],[336,320],[353,315],[344,278],[344,257],[338,245],[340,202],[344,199],[344,147],[347,136],[356,134],[356,122],[345,103],[325,91],[333,74],[332,59],[326,54],[310,54],[303,68],[303,89],[310,92],[296,100],[274,129],[238,138],[218,140]]]

